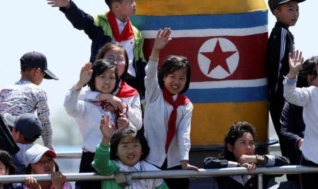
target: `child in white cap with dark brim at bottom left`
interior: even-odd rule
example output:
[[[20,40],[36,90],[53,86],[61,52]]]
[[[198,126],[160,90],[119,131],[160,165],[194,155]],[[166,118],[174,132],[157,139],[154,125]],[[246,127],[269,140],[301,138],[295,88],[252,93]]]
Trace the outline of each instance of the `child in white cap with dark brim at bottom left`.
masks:
[[[26,155],[29,160],[27,174],[51,174],[51,181],[38,182],[34,177],[26,177],[25,189],[72,188],[70,182],[66,181],[66,176],[59,172],[59,167],[53,159],[57,157],[54,151],[40,144],[34,144],[27,150]]]

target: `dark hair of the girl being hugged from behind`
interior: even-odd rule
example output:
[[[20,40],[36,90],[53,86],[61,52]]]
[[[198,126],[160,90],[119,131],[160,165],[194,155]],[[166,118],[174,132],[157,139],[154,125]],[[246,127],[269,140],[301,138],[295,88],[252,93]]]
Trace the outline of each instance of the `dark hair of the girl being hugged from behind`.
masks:
[[[101,60],[96,60],[93,64],[92,64],[92,77],[90,78],[90,81],[88,81],[88,86],[90,87],[90,90],[95,91],[95,77],[97,77],[98,75],[101,75],[104,71],[108,71],[110,69],[114,69],[115,71],[115,76],[116,76],[116,85],[114,90],[112,90],[111,92],[114,92],[119,85],[119,77],[118,77],[118,71],[116,68],[116,65],[113,63],[108,62],[105,59],[101,59]]]

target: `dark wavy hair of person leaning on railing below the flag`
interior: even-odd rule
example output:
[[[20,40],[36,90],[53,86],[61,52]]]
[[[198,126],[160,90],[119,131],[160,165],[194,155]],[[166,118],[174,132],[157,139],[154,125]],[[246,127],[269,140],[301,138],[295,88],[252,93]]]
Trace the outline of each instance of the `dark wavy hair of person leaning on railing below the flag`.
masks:
[[[237,160],[235,160],[233,152],[228,150],[227,144],[230,144],[234,147],[235,141],[238,138],[241,138],[243,134],[246,132],[252,134],[254,141],[256,140],[256,130],[252,124],[246,121],[239,121],[237,123],[233,123],[233,125],[230,127],[230,129],[228,129],[228,132],[224,137],[224,149],[223,152],[219,155],[219,157],[225,160],[236,162]]]

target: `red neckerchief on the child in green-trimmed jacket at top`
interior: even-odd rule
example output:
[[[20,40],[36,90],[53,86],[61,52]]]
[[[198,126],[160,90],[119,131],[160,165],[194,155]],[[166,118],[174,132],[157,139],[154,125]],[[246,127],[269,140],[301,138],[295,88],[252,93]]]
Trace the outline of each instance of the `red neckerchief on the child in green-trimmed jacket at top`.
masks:
[[[111,11],[107,12],[107,19],[109,21],[111,31],[113,31],[116,41],[122,42],[122,40],[129,40],[133,38],[133,26],[131,25],[131,21],[129,20],[129,17],[127,17],[127,24],[122,30],[122,34],[119,34],[117,21],[113,12]]]

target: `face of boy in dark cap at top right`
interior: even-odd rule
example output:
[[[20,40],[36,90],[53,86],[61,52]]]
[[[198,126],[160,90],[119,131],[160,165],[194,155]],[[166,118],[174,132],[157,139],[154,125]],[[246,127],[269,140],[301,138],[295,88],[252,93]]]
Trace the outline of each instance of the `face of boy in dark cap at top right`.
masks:
[[[286,27],[295,25],[300,16],[297,1],[289,1],[280,5],[280,8],[274,10],[274,14],[277,20]]]

